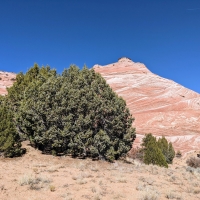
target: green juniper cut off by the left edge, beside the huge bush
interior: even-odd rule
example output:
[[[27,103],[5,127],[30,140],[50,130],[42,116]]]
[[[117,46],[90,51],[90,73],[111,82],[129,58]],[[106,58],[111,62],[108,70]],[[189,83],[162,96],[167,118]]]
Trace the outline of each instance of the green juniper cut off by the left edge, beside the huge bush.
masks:
[[[0,97],[0,154],[5,157],[20,156],[23,153],[19,134],[13,123],[13,113],[6,99]]]

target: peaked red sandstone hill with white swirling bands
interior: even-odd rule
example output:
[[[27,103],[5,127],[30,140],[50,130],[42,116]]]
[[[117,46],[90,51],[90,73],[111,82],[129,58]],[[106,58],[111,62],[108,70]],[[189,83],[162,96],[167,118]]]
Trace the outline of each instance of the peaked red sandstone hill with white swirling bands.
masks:
[[[152,133],[167,136],[183,152],[199,149],[200,94],[153,74],[144,64],[128,58],[93,68],[126,100],[135,118],[135,144],[144,134]]]

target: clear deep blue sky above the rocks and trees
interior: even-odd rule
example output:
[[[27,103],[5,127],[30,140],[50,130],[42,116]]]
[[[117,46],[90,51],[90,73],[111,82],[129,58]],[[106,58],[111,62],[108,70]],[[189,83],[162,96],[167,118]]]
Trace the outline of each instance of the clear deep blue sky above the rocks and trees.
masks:
[[[200,0],[0,0],[0,70],[123,56],[200,93]]]

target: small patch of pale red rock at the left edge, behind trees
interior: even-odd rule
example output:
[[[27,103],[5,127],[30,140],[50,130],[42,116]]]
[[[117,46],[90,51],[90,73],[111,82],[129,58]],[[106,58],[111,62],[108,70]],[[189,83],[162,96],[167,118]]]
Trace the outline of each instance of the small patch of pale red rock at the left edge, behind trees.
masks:
[[[6,88],[13,85],[15,78],[14,73],[0,71],[0,95],[7,94]]]

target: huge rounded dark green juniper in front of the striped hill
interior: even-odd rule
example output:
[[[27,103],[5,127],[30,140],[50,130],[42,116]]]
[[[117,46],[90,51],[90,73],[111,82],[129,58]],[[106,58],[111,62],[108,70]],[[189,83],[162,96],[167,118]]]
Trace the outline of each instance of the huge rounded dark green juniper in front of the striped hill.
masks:
[[[71,66],[57,76],[34,66],[20,81],[9,90],[17,126],[43,152],[114,160],[132,147],[135,130],[126,103],[94,70]]]

